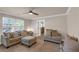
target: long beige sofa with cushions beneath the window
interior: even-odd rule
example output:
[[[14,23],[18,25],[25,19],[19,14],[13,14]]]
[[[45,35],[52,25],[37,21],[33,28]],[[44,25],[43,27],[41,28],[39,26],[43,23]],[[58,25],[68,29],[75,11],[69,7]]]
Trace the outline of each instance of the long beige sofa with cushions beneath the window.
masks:
[[[1,35],[2,45],[8,48],[12,45],[20,43],[22,37],[31,36],[31,35],[33,35],[33,32],[31,32],[31,31],[27,32],[25,30],[17,31],[17,32],[3,33]]]

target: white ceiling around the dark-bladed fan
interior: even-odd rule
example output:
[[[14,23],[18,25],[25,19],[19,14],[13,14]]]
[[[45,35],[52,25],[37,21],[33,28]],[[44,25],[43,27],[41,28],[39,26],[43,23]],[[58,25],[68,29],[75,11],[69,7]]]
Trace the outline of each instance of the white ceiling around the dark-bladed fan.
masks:
[[[32,9],[33,12],[38,13],[39,15],[29,15],[27,12],[30,9]],[[38,17],[64,14],[66,13],[67,9],[67,7],[0,7],[0,13],[20,17],[23,19],[33,19]]]

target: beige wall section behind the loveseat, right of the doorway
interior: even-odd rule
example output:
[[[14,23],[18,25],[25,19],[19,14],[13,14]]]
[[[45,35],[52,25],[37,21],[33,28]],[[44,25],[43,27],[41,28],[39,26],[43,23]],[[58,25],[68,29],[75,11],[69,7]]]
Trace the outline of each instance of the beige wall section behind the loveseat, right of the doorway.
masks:
[[[66,18],[67,18],[66,15],[46,18],[45,28],[58,30],[62,34],[65,34],[67,32]]]

